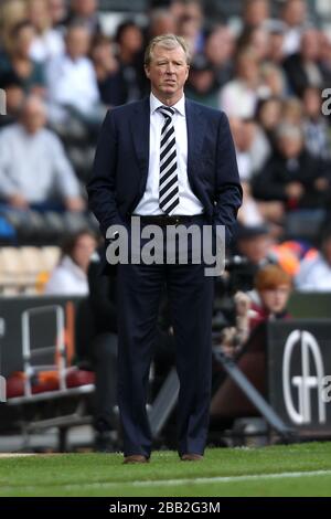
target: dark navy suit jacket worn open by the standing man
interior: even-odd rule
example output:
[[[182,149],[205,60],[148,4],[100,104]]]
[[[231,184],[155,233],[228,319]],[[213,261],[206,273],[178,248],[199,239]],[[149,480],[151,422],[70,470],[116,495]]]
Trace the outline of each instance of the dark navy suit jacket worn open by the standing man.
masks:
[[[190,99],[185,103],[190,186],[209,222],[225,225],[229,240],[242,188],[227,117]],[[87,183],[89,209],[104,236],[110,225],[126,224],[143,195],[149,131],[149,97],[113,108],[106,115]]]

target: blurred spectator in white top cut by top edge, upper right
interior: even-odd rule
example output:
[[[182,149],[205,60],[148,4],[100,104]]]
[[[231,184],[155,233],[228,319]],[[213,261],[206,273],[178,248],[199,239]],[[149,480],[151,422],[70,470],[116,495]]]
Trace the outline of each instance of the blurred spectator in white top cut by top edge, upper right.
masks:
[[[299,52],[301,34],[308,27],[306,0],[287,0],[280,11],[285,23],[284,52],[286,55]]]

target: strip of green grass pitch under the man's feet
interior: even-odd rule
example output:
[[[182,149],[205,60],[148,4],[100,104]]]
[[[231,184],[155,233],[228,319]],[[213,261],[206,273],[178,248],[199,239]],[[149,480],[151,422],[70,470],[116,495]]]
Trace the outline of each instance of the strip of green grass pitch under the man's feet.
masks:
[[[121,454],[0,455],[0,496],[331,496],[331,442],[209,448],[195,463],[154,452],[146,465]]]

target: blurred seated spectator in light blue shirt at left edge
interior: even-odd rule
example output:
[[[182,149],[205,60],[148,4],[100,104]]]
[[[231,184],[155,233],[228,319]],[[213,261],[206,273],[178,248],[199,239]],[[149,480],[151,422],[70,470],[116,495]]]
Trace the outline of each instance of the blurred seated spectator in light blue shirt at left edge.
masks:
[[[75,172],[61,141],[46,129],[46,112],[36,96],[25,99],[20,120],[0,134],[0,198],[10,208],[57,206],[81,211]]]

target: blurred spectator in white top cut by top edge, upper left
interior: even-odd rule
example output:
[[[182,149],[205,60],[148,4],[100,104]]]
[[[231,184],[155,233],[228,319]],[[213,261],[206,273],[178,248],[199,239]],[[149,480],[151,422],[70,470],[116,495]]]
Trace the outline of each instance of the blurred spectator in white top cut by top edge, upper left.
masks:
[[[28,17],[35,29],[30,56],[36,62],[45,62],[64,51],[62,33],[52,28],[49,0],[28,0]]]

